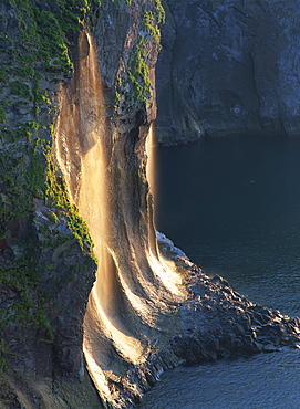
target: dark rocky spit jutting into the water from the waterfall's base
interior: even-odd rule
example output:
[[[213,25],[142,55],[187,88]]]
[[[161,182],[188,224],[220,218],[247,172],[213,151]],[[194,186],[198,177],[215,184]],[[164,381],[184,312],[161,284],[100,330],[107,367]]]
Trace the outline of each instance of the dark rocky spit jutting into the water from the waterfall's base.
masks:
[[[159,233],[158,243],[162,253],[173,259],[186,274],[190,297],[178,311],[183,331],[164,348],[151,354],[145,364],[131,368],[122,382],[112,382],[110,388],[116,400],[105,408],[138,406],[159,375],[179,365],[275,353],[282,347],[299,348],[298,317],[254,304],[221,276],[207,276],[164,234]]]

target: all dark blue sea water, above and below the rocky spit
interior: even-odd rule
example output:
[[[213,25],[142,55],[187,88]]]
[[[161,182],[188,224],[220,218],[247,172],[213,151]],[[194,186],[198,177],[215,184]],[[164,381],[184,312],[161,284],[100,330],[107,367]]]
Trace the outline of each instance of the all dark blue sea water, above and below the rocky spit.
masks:
[[[156,226],[252,302],[300,315],[300,139],[232,137],[161,149]],[[300,408],[300,352],[162,375],[143,408]]]

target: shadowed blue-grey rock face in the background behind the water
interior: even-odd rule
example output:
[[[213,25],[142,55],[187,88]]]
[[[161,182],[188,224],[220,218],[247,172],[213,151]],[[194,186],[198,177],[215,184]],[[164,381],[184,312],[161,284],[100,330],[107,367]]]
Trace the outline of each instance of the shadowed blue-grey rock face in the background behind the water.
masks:
[[[299,134],[298,1],[166,0],[165,7],[159,140],[197,138],[198,123],[208,136]]]

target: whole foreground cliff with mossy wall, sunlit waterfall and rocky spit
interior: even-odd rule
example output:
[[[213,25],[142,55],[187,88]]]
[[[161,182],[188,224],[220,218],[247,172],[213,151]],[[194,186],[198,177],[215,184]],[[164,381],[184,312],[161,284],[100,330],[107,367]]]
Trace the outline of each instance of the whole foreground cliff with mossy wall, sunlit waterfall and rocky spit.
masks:
[[[158,0],[1,2],[3,408],[132,407],[180,363],[299,342],[155,232],[163,21]]]

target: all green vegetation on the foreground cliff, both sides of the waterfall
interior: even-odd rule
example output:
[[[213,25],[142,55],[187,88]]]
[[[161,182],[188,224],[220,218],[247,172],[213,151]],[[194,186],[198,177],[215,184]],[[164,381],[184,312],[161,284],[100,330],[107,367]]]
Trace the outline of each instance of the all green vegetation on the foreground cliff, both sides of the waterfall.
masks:
[[[73,243],[79,243],[86,259],[94,260],[87,226],[71,202],[53,162],[53,125],[45,123],[55,118],[58,107],[50,101],[46,84],[72,73],[70,41],[84,22],[92,21],[93,8],[107,1],[123,9],[132,4],[132,0],[9,0],[15,13],[15,27],[0,33],[0,54],[7,61],[0,69],[0,244],[3,245],[0,255],[9,251],[7,241],[20,249],[18,258],[8,258],[8,262],[0,260],[0,290],[9,289],[14,294],[14,302],[0,313],[0,326],[6,331],[12,325],[20,334],[22,328],[34,327],[41,342],[53,339],[49,319],[53,306],[40,287],[43,274],[49,273],[49,282],[53,280],[53,289],[59,289],[77,273],[73,271],[75,268],[70,268],[66,274],[54,276],[55,263],[41,265],[39,252],[59,249],[58,253],[63,256]],[[153,97],[149,51],[153,43],[158,46],[158,27],[165,17],[161,0],[152,0],[152,3],[156,12],[143,12],[143,33],[134,41],[127,66],[116,81],[115,105],[122,104],[126,111],[149,104]],[[0,14],[0,19],[7,23],[4,15]],[[35,234],[43,239],[38,241],[31,230],[25,238],[12,237],[14,222],[23,220],[34,226],[34,200],[43,200],[52,209],[49,221],[34,227]],[[70,235],[53,233],[53,226],[62,220]],[[87,266],[76,269],[85,274]],[[9,355],[9,343],[0,339],[0,368],[7,369]]]

